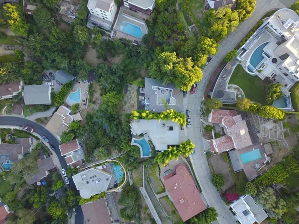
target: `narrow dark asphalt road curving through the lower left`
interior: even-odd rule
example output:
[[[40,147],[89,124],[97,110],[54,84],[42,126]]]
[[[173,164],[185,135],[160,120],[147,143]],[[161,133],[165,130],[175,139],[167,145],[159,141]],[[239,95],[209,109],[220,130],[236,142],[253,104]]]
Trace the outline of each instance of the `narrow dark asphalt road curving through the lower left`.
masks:
[[[64,168],[64,169],[67,169],[66,162],[65,162],[64,158],[61,157],[61,153],[60,153],[60,150],[59,150],[59,142],[58,142],[58,140],[44,126],[42,126],[39,123],[33,122],[31,120],[28,120],[26,118],[22,118],[22,117],[2,116],[2,115],[0,116],[0,125],[13,125],[13,126],[20,126],[20,127],[22,127],[24,124],[26,124],[26,125],[28,125],[30,127],[33,127],[34,131],[37,134],[39,134],[40,136],[44,135],[44,136],[46,136],[49,139],[49,143],[52,144],[55,147],[55,149],[56,149],[55,152],[57,154],[57,157],[59,159],[61,167]],[[75,184],[73,182],[73,179],[69,178],[69,181],[70,181],[69,186],[78,193],[78,191],[76,189],[76,186],[75,186]],[[82,213],[81,206],[79,206],[77,208],[77,215],[76,215],[75,223],[76,224],[83,224],[84,223],[84,218],[83,218],[83,213]]]

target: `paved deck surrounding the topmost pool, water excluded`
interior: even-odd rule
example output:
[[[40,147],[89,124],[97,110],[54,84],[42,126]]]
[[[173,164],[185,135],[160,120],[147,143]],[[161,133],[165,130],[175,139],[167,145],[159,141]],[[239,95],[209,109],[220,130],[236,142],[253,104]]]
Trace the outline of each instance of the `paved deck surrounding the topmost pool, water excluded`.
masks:
[[[132,41],[133,40],[141,40],[142,37],[149,32],[147,24],[145,23],[145,21],[143,21],[143,20],[141,20],[141,19],[139,19],[137,17],[132,16],[132,13],[128,13],[127,14],[126,11],[127,10],[124,8],[124,6],[122,6],[121,9],[120,9],[120,13],[118,15],[118,18],[116,20],[116,23],[115,23],[115,25],[113,27],[113,34],[112,34],[112,36],[114,38],[119,38],[119,39],[120,38],[126,38],[126,39],[132,40]],[[143,33],[142,37],[141,38],[137,38],[137,37],[134,37],[134,36],[131,36],[131,35],[127,34],[127,33],[122,32],[122,30],[121,30],[121,24],[124,21],[125,22],[129,22],[129,23],[131,23],[133,25],[139,26],[141,28],[141,30],[142,30],[142,33]]]

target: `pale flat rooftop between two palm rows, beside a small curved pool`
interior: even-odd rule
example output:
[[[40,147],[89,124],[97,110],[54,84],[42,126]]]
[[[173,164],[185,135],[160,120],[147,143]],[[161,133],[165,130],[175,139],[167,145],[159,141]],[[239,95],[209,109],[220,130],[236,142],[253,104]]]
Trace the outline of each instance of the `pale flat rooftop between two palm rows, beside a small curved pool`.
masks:
[[[168,145],[179,145],[179,125],[170,120],[133,120],[131,131],[134,135],[147,133],[155,150],[164,151]]]

